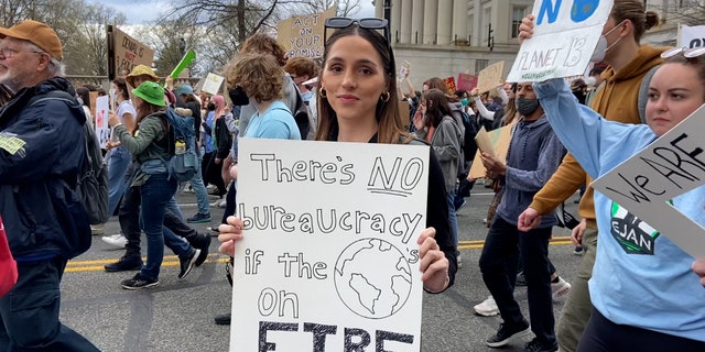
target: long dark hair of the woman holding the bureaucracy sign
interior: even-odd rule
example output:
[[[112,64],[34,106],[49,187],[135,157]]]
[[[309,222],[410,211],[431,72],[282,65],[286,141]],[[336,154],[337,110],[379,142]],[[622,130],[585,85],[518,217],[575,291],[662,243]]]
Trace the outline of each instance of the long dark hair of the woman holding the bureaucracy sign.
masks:
[[[325,77],[330,47],[339,38],[351,35],[357,35],[368,41],[377,51],[377,54],[379,54],[382,65],[384,66],[386,92],[389,94],[389,99],[386,99],[386,101],[380,99],[377,103],[375,111],[377,122],[379,123],[377,141],[379,143],[395,144],[400,143],[402,136],[410,140],[399,113],[394,56],[387,40],[379,32],[376,30],[361,29],[357,24],[336,30],[326,41],[323,54],[323,69],[319,75],[321,79],[323,80],[323,77]],[[324,89],[324,87],[321,87],[321,89]],[[318,99],[318,132],[316,132],[316,141],[335,140],[338,134],[338,117],[335,110],[333,110],[328,99],[321,97],[321,99]]]

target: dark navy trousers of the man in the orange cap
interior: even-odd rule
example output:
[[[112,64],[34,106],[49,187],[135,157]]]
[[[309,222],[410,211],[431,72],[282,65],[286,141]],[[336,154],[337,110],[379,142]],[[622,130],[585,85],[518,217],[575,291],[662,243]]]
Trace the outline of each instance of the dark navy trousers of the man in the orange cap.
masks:
[[[0,298],[0,351],[98,350],[58,320],[66,260],[18,262],[18,283]]]

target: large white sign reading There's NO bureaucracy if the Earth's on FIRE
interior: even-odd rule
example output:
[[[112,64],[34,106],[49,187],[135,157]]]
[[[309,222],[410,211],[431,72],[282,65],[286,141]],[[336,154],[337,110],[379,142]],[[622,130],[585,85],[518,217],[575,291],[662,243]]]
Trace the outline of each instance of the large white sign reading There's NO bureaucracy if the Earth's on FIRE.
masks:
[[[230,351],[420,351],[429,146],[239,143]]]

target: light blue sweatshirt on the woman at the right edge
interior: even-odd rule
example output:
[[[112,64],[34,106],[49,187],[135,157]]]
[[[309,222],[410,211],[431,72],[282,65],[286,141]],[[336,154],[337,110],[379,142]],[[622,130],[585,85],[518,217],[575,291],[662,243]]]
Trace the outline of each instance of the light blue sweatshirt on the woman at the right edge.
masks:
[[[646,124],[607,121],[578,105],[563,79],[534,89],[554,132],[594,178],[657,139]],[[704,201],[702,186],[674,198],[673,206],[704,226]],[[597,190],[595,212],[597,258],[588,283],[595,308],[615,323],[705,341],[705,288],[691,270],[695,260]],[[639,227],[627,231],[638,242],[623,235],[634,221]]]

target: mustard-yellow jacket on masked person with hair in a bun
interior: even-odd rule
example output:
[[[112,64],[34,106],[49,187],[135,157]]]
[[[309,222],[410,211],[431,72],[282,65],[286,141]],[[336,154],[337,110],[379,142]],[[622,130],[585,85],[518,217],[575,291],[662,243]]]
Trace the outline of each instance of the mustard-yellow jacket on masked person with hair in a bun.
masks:
[[[618,73],[615,74],[615,70],[608,67],[601,75],[604,82],[590,103],[593,110],[607,120],[640,123],[637,101],[641,80],[653,66],[663,62],[660,55],[666,48],[642,45],[637,52],[637,57]],[[589,185],[592,182],[593,179],[568,153],[551,179],[533,197],[529,207],[536,209],[541,215],[550,213],[581,186]],[[578,215],[587,221],[589,228],[597,228],[592,187],[587,187],[581,199]]]

